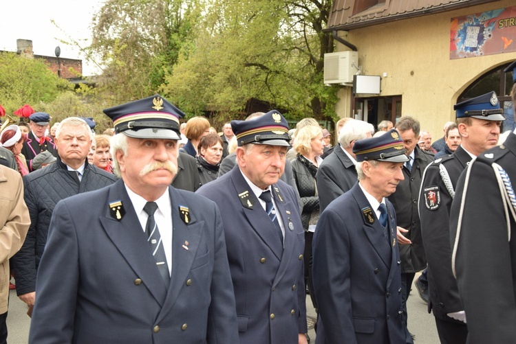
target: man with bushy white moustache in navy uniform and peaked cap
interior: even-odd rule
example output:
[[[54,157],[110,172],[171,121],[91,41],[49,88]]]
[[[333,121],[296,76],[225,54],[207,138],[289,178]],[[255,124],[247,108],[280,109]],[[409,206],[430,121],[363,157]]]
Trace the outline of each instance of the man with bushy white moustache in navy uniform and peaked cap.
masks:
[[[217,205],[170,186],[184,114],[160,95],[104,112],[121,179],[56,206],[30,343],[237,343]]]

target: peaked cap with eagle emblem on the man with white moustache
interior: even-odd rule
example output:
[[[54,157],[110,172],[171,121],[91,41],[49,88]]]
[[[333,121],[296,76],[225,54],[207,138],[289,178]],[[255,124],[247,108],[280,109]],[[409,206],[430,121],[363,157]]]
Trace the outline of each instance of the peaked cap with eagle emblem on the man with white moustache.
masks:
[[[140,139],[181,139],[179,119],[184,113],[159,94],[106,108],[104,113],[113,120],[116,134]]]

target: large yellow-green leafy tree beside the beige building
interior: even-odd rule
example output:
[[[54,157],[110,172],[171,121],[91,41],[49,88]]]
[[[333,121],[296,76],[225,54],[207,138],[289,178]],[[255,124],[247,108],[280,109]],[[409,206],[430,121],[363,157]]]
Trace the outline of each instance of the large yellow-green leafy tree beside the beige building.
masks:
[[[334,117],[336,89],[323,85],[323,57],[333,51],[332,36],[322,31],[331,3],[211,1],[164,93],[194,114],[235,117],[257,99],[290,119]]]

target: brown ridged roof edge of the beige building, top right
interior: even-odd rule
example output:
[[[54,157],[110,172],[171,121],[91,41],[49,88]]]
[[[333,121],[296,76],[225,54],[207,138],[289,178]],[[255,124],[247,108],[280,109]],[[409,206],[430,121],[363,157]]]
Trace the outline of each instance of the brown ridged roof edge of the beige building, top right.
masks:
[[[446,12],[496,0],[385,0],[353,15],[359,0],[334,0],[326,30],[352,30],[415,16]]]

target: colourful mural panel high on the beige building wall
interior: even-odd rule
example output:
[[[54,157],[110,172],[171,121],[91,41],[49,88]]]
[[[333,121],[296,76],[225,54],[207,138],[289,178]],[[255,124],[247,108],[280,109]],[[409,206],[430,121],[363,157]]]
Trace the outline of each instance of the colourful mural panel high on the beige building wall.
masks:
[[[451,19],[450,59],[516,51],[516,6]]]

